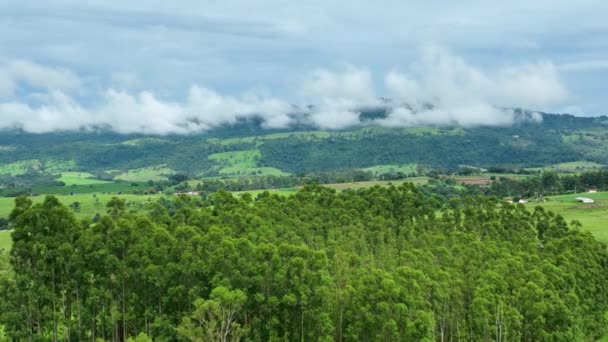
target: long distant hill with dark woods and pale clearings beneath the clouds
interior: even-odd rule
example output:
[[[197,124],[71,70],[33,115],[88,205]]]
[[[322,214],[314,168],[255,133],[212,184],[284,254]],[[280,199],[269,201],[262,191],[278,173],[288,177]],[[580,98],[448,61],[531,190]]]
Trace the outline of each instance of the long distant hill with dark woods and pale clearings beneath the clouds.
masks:
[[[362,116],[378,117],[382,111]],[[509,127],[355,127],[268,130],[246,121],[196,135],[121,135],[108,131],[0,134],[0,175],[90,172],[128,179],[147,168],[193,176],[297,174],[418,164],[540,167],[608,164],[608,118],[542,114]],[[125,178],[126,177],[126,178]],[[145,176],[142,176],[145,177]]]

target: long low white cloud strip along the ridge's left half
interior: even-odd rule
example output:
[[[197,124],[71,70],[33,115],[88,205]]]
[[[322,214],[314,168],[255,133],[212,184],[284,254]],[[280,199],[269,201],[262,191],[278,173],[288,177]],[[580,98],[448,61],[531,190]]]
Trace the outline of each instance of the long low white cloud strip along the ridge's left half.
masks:
[[[193,133],[239,119],[259,117],[268,128],[291,124],[290,106],[271,98],[234,98],[192,86],[183,102],[157,98],[152,92],[131,94],[108,89],[100,106],[85,108],[62,92],[53,92],[38,107],[21,102],[0,103],[0,128],[28,132],[110,127],[119,133]]]

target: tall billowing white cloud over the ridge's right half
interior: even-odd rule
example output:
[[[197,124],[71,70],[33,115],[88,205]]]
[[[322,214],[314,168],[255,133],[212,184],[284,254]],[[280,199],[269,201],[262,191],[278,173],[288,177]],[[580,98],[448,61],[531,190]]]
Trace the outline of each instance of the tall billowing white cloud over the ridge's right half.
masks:
[[[437,47],[426,49],[422,56],[409,73],[392,71],[385,77],[391,97],[407,106],[393,110],[379,123],[509,125],[516,116],[508,108],[546,109],[569,99],[549,62],[488,72]]]

